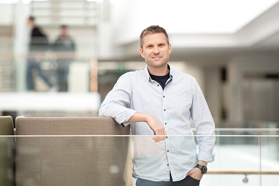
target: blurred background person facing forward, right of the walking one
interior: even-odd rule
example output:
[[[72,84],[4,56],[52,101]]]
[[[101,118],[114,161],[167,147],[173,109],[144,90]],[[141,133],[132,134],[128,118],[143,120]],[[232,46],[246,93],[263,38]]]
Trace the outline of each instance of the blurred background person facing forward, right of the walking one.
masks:
[[[76,51],[73,39],[68,35],[68,26],[61,26],[61,34],[53,45],[53,51],[57,59],[57,78],[59,91],[68,91],[69,66],[73,61],[74,52]]]

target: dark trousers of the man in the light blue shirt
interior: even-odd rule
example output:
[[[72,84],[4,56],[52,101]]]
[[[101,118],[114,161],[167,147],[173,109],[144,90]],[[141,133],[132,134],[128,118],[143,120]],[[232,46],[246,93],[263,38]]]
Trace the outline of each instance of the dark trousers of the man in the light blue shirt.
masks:
[[[200,185],[200,180],[196,180],[191,176],[186,176],[183,180],[173,182],[170,175],[170,181],[168,182],[153,182],[149,180],[143,180],[141,178],[137,179],[136,186],[198,186]]]

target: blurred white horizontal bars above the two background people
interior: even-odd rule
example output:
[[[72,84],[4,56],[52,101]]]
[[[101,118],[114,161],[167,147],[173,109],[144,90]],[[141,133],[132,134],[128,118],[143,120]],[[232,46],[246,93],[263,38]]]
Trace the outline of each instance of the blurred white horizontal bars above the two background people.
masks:
[[[99,21],[99,4],[86,0],[31,1],[31,15],[41,26],[96,26]]]

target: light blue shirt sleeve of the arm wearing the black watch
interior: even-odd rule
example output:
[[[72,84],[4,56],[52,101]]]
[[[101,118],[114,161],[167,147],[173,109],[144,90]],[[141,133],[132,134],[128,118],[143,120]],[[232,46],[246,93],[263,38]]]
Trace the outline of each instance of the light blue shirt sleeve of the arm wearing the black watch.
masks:
[[[201,135],[197,136],[197,141],[199,143],[197,158],[198,160],[205,162],[213,162],[215,156],[215,154],[213,154],[215,136],[204,135],[215,135],[215,124],[206,103],[206,99],[204,98],[196,79],[193,79],[191,86],[193,95],[193,102],[190,110],[191,118],[197,130],[197,135]]]

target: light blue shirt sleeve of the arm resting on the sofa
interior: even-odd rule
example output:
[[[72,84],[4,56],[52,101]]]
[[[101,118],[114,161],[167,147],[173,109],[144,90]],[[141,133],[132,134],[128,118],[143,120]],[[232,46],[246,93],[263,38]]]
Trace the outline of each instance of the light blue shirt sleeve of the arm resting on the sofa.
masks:
[[[136,113],[136,110],[130,109],[131,95],[131,80],[128,73],[125,73],[107,94],[99,109],[99,116],[112,117],[119,124],[129,125],[126,121]]]

